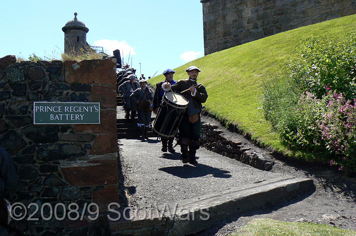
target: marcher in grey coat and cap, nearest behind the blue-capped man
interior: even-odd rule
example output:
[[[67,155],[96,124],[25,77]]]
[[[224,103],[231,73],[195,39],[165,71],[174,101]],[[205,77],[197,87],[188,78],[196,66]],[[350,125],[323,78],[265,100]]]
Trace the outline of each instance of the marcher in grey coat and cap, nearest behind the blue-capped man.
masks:
[[[147,131],[151,122],[151,104],[153,92],[147,87],[147,81],[139,81],[140,88],[134,90],[130,95],[131,102],[137,107],[137,126],[141,129],[141,139],[148,139]]]

